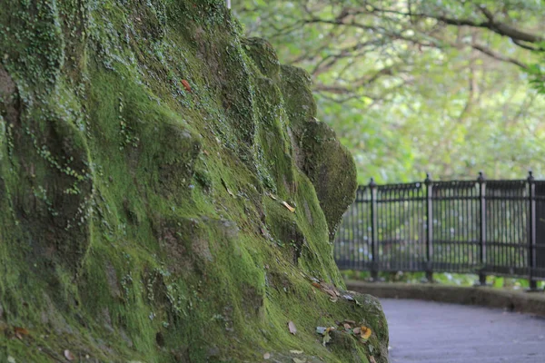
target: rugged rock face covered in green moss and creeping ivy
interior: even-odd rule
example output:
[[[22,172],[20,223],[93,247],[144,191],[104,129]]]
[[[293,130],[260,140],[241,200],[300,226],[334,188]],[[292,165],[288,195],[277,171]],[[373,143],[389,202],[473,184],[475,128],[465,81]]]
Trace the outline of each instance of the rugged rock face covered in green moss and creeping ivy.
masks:
[[[380,304],[312,285],[356,181],[306,74],[223,0],[7,9],[0,361],[387,361]]]

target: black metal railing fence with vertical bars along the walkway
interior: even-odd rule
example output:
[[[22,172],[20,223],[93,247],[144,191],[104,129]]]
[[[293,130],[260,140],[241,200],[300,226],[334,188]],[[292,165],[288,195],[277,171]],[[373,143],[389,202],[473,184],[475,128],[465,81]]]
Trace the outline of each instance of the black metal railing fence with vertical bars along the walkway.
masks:
[[[545,280],[545,181],[362,185],[337,231],[342,270]]]

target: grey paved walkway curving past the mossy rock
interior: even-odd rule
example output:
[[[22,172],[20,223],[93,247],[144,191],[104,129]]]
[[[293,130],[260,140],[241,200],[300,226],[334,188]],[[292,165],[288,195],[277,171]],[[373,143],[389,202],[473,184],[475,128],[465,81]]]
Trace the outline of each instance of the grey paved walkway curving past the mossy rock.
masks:
[[[391,363],[545,363],[545,319],[474,306],[381,299]]]

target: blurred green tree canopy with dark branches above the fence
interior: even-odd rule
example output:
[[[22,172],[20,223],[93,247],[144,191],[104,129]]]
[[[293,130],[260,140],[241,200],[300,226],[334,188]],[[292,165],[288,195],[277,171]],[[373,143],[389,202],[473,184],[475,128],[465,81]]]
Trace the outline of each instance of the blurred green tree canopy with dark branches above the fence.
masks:
[[[314,81],[360,182],[545,177],[540,0],[237,0]]]

